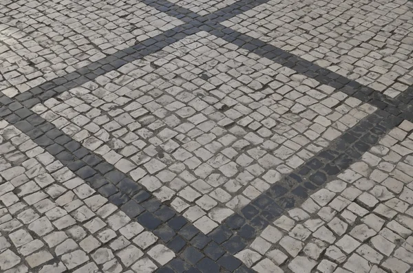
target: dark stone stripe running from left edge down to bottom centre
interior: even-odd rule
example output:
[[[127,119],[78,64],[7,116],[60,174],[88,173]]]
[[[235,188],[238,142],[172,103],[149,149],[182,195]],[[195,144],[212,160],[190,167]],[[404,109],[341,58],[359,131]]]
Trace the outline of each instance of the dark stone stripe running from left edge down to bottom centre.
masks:
[[[248,272],[241,261],[219,245],[221,239],[204,235],[176,210],[162,204],[144,186],[134,182],[96,153],[85,149],[80,142],[72,140],[20,102],[1,95],[0,119],[28,135],[173,250],[178,257],[160,268],[159,272],[198,272],[197,268],[199,272],[209,268],[211,273],[218,273],[224,268],[230,272]],[[199,259],[194,259],[194,256]]]

